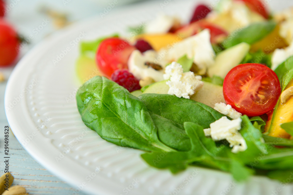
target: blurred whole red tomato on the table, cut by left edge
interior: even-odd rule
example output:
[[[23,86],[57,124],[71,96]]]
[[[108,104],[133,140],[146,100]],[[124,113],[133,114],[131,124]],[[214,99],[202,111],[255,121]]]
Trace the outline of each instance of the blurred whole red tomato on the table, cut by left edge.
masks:
[[[20,41],[16,31],[4,20],[0,20],[0,66],[7,66],[15,61]]]

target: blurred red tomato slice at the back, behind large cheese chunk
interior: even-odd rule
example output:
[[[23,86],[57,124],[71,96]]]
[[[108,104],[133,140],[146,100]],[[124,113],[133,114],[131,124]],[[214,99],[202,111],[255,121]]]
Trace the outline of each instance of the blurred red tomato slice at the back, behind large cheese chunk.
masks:
[[[197,22],[193,22],[188,25],[185,25],[181,27],[180,29],[178,29],[175,33],[180,34],[180,36],[182,36],[183,38],[186,38],[186,37],[195,35],[206,28],[210,30],[212,44],[217,43],[218,42],[217,40],[219,39],[219,37],[226,37],[229,34],[221,27],[215,24],[209,23],[205,20],[201,20],[201,21],[197,21]]]

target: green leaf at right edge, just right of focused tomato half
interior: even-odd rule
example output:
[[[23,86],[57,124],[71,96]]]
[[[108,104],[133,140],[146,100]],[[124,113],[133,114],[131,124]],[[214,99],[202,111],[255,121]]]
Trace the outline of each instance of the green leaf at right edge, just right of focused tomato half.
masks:
[[[280,64],[276,68],[275,73],[277,74],[282,85],[282,91],[284,91],[287,84],[293,79],[293,56]]]

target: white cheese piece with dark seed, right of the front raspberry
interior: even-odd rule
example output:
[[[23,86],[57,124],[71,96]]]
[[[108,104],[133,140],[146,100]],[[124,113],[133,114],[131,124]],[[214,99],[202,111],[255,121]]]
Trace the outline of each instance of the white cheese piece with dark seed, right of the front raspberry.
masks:
[[[158,60],[158,53],[153,50],[145,51],[143,54],[134,50],[128,60],[128,68],[130,73],[134,75],[137,79],[143,79],[145,77],[150,77],[154,81],[162,81],[164,74],[164,67],[168,61],[161,59]],[[145,65],[146,62],[152,62],[161,65],[162,70],[155,70],[154,68]],[[158,63],[159,62],[159,63]]]

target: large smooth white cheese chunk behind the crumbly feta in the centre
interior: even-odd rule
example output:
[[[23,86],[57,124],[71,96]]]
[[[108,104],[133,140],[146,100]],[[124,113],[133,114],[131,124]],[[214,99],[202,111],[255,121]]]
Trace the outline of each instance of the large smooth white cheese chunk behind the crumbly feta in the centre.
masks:
[[[199,69],[208,68],[214,65],[215,57],[210,37],[209,29],[205,29],[174,44],[170,49],[162,49],[159,54],[165,56],[168,61],[177,61],[187,55],[188,58],[193,58]]]

